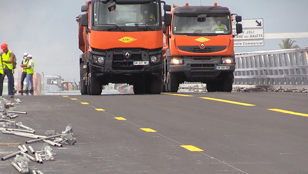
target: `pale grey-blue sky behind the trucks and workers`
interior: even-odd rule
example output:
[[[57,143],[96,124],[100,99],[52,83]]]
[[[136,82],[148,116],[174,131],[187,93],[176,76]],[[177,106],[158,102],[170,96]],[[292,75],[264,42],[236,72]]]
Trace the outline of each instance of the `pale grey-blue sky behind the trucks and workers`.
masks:
[[[200,5],[200,0],[165,0],[167,4]],[[308,32],[308,0],[201,0],[202,5],[227,6],[243,19],[263,18],[264,33]],[[0,0],[0,42],[6,42],[17,63],[27,52],[35,71],[79,81],[78,24],[85,0]],[[301,48],[308,38],[293,39]],[[235,47],[237,52],[280,49],[282,39],[265,39],[264,46]],[[17,78],[17,77],[15,77]]]

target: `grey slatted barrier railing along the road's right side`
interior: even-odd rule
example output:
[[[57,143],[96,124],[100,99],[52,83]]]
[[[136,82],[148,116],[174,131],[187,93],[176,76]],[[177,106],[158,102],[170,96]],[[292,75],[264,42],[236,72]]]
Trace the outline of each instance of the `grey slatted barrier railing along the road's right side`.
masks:
[[[308,48],[235,54],[234,85],[308,85]]]

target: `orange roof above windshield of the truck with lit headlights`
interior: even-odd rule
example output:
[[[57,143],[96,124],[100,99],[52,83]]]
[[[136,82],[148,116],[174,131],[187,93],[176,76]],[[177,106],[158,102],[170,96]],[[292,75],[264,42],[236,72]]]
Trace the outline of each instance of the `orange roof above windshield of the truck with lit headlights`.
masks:
[[[224,6],[179,6],[173,9],[173,14],[205,13],[230,13],[230,9]]]

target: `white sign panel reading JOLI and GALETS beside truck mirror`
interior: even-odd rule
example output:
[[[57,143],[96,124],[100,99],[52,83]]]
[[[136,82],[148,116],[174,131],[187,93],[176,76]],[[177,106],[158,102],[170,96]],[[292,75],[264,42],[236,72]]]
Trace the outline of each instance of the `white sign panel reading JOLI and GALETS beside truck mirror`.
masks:
[[[233,29],[233,34],[236,34],[236,30],[234,29]],[[264,39],[263,28],[243,29],[242,33],[234,36],[234,40],[256,40],[256,39]]]

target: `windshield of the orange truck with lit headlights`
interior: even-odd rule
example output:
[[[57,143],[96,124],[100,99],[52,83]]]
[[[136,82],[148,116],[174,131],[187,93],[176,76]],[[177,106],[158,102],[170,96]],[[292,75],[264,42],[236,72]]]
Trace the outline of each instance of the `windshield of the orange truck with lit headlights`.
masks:
[[[205,21],[198,22],[198,14],[174,14],[173,34],[229,35],[230,14],[204,14]]]

